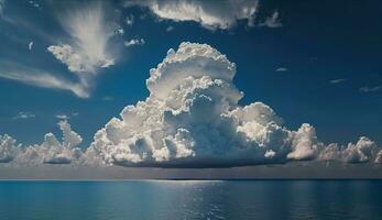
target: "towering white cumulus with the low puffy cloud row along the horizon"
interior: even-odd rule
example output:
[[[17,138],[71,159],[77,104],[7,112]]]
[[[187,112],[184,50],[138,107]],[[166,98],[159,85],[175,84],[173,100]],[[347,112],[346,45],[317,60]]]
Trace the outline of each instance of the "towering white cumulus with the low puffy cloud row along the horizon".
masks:
[[[325,144],[314,127],[288,130],[262,102],[239,106],[243,92],[236,88],[234,75],[234,63],[217,50],[182,43],[150,70],[146,100],[127,106],[85,152],[77,147],[81,138],[62,121],[62,142],[48,133],[42,144],[22,147],[9,135],[0,136],[0,162],[162,167],[382,163],[382,151],[368,138],[346,146]]]

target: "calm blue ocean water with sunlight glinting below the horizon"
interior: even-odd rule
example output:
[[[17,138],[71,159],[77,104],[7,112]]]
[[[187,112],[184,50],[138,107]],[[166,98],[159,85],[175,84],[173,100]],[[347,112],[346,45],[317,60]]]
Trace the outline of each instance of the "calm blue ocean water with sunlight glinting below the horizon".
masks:
[[[0,182],[0,219],[382,219],[382,182]]]

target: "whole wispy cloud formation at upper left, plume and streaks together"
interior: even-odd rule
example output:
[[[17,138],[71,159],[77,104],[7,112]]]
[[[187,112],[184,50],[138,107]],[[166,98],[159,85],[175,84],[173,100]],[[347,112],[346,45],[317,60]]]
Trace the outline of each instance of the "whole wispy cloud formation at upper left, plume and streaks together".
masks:
[[[2,9],[4,0],[0,0]],[[111,38],[117,35],[114,18],[108,19],[101,3],[70,4],[70,10],[61,10],[57,15],[61,26],[67,35],[57,38],[46,30],[34,29],[33,22],[24,22],[20,16],[6,16],[9,25],[15,29],[31,30],[35,35],[48,40],[47,52],[64,64],[73,76],[66,77],[58,70],[45,69],[42,66],[29,64],[24,59],[0,61],[0,77],[22,84],[72,91],[79,98],[89,98],[95,87],[95,78],[100,69],[114,65],[116,55],[112,52]],[[8,14],[7,14],[8,15]],[[37,30],[37,31],[36,31]],[[39,34],[36,34],[37,32]],[[32,51],[34,42],[28,43]],[[28,61],[26,61],[28,63]]]

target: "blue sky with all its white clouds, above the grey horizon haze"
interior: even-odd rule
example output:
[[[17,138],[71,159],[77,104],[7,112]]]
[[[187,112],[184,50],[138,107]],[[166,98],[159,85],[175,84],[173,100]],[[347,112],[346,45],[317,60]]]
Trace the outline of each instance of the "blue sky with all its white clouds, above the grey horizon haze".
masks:
[[[379,4],[0,0],[0,134],[21,148],[39,145],[37,155],[50,154],[42,161],[54,164],[72,163],[74,146],[123,166],[327,160],[328,146],[330,158],[376,161]],[[227,117],[233,125],[225,125]],[[165,147],[152,150],[156,141]],[[226,142],[261,151],[238,153]],[[70,158],[50,146],[70,148]]]

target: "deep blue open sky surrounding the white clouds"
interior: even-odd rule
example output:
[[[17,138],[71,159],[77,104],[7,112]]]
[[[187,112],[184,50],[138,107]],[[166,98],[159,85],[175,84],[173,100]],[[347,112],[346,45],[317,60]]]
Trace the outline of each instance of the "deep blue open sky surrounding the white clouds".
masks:
[[[67,14],[94,1],[0,2],[0,133],[22,143],[58,133],[57,116],[66,116],[84,138],[83,147],[88,146],[123,107],[148,97],[150,68],[186,41],[209,44],[237,64],[234,84],[245,95],[241,105],[262,101],[292,129],[309,122],[327,143],[360,135],[382,143],[381,6],[374,1],[260,1],[253,24],[244,19],[229,26],[161,18],[146,6],[102,2],[105,25],[114,34],[101,32],[95,40],[108,37],[100,50],[113,64],[103,68],[97,63],[96,70],[86,73],[88,85],[80,85],[86,97],[9,76],[46,73],[78,86],[78,75],[48,47],[75,41]],[[264,24],[275,12],[277,20]],[[217,7],[216,13],[227,12]],[[131,40],[138,44],[125,46]],[[107,64],[110,57],[99,61]]]

